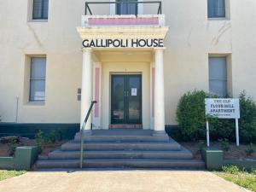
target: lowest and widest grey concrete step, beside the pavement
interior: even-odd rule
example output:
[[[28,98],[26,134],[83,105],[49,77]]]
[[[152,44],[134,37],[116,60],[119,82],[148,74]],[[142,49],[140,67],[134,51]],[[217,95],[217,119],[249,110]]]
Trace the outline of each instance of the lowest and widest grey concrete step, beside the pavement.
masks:
[[[161,159],[90,159],[83,161],[84,168],[193,168],[204,169],[202,160]],[[78,168],[79,160],[38,160],[37,169]]]

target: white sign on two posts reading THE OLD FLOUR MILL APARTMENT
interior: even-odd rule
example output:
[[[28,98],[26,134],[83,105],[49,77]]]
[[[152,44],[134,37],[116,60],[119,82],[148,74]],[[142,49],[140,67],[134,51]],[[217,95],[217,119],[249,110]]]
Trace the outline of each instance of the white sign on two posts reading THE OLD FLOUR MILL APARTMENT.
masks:
[[[238,119],[240,119],[239,99],[206,99],[206,115],[218,119],[236,119],[236,145],[239,146]],[[207,147],[210,146],[209,122],[207,120]]]

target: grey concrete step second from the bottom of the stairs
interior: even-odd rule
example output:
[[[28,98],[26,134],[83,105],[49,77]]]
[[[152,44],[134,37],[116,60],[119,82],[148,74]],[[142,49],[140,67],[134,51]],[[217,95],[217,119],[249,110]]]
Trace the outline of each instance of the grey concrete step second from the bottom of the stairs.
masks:
[[[49,160],[75,160],[79,159],[79,151],[55,150],[48,154]],[[186,149],[180,151],[84,151],[86,159],[183,159],[191,160],[193,155]]]

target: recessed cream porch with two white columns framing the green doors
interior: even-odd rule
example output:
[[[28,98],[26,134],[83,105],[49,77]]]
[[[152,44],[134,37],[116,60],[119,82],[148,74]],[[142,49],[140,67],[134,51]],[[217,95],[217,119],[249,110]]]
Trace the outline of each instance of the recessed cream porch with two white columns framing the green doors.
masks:
[[[142,78],[141,123],[143,129],[156,133],[165,132],[163,53],[160,49],[83,49],[81,125],[92,100],[97,104],[90,114],[86,131],[108,129],[112,121],[112,81],[114,75],[138,75]],[[137,96],[136,87],[127,90],[124,96]],[[126,91],[125,90],[125,91]],[[158,102],[155,102],[158,101]],[[140,112],[139,112],[140,113]],[[116,122],[124,125],[127,122]],[[128,123],[127,123],[128,124]],[[138,124],[138,121],[134,124]],[[115,126],[117,127],[117,126]],[[131,127],[131,126],[130,126]]]

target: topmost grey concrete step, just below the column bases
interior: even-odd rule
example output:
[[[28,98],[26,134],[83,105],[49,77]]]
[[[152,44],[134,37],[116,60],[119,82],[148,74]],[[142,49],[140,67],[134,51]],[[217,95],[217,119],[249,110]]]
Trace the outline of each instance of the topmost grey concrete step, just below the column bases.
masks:
[[[75,138],[75,142],[80,141],[80,134],[77,133]],[[85,142],[161,142],[167,143],[170,141],[170,138],[167,135],[160,136],[151,136],[151,135],[91,135],[84,137]]]

